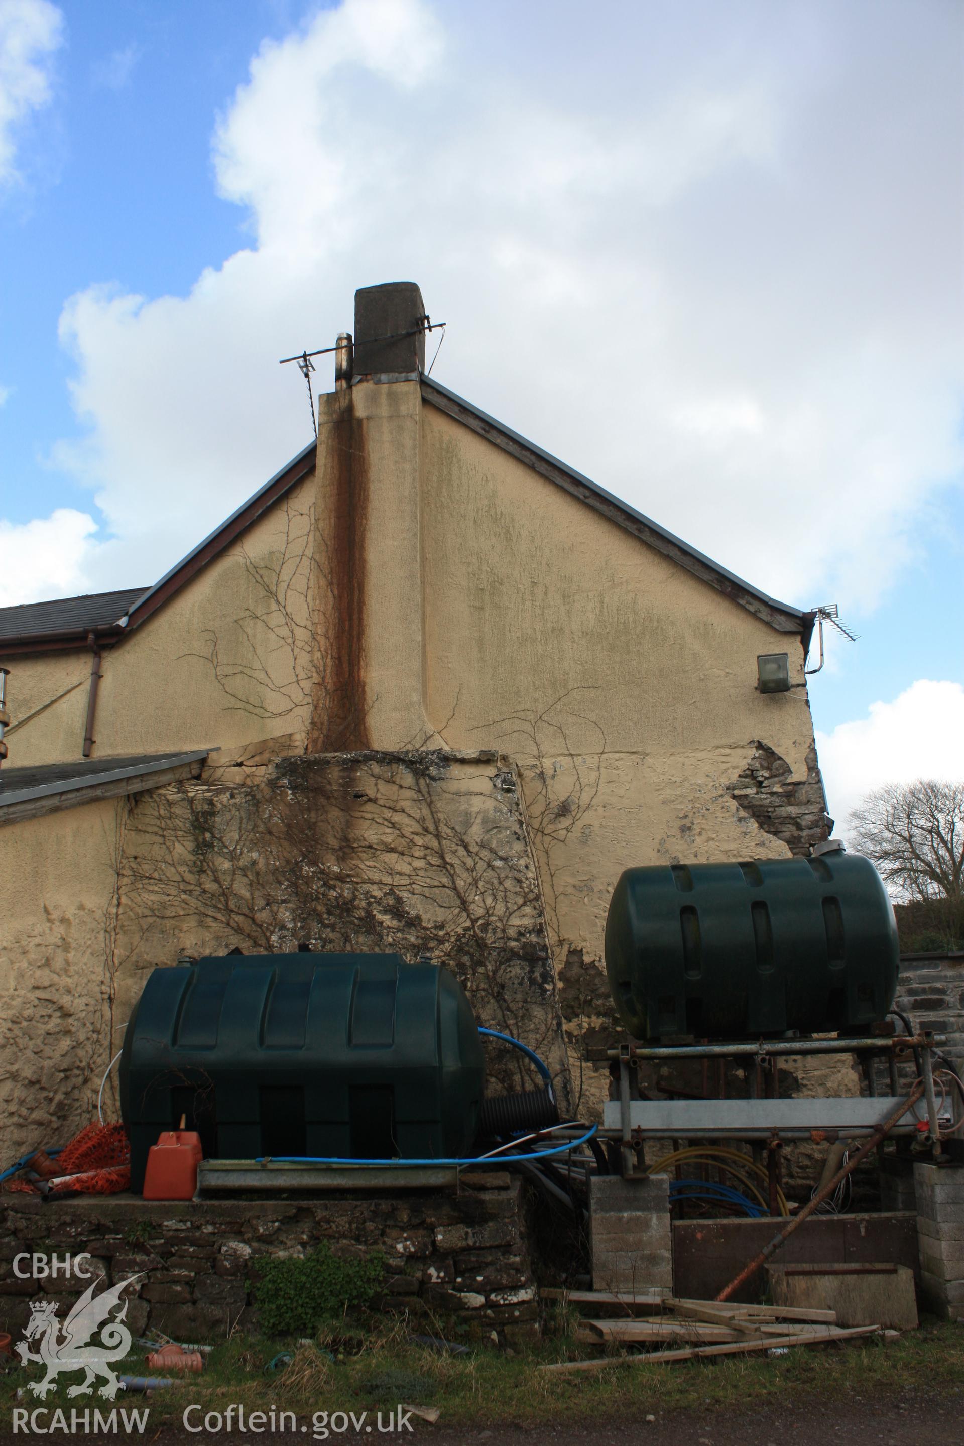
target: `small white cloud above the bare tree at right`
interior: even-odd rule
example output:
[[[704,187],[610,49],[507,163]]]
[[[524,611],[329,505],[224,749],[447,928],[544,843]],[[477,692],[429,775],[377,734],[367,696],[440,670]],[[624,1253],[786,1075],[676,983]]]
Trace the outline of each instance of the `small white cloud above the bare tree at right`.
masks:
[[[867,717],[817,735],[827,803],[847,834],[847,817],[883,784],[915,778],[964,779],[964,687],[918,680],[892,703],[872,703]]]

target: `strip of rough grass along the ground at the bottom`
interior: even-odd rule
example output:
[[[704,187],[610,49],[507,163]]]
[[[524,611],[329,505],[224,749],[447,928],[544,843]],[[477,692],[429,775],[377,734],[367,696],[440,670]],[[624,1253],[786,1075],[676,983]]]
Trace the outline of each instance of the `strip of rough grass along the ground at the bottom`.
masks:
[[[179,1379],[171,1390],[158,1391],[149,1403],[145,1397],[127,1397],[117,1404],[149,1404],[152,1430],[168,1421],[179,1423],[185,1406],[192,1403],[204,1411],[224,1411],[234,1403],[243,1404],[247,1413],[269,1411],[273,1406],[305,1417],[318,1410],[356,1414],[390,1410],[402,1401],[438,1407],[445,1426],[535,1426],[621,1416],[640,1419],[647,1413],[665,1416],[692,1407],[701,1411],[759,1408],[778,1397],[780,1407],[786,1407],[793,1398],[802,1401],[817,1392],[821,1397],[861,1394],[892,1400],[902,1391],[919,1392],[924,1387],[964,1394],[964,1329],[942,1323],[925,1323],[890,1343],[869,1338],[793,1349],[773,1359],[728,1356],[572,1375],[538,1371],[542,1362],[598,1353],[594,1348],[575,1345],[571,1336],[543,1340],[512,1356],[489,1345],[454,1356],[410,1343],[403,1323],[369,1322],[366,1327],[357,1322],[356,1330],[350,1335],[338,1326],[322,1332],[318,1343],[308,1346],[236,1336],[215,1346],[201,1377]],[[266,1365],[282,1349],[291,1349],[293,1361],[285,1369],[266,1374]],[[147,1374],[143,1352],[132,1353],[121,1371]],[[36,1366],[7,1371],[0,1379],[0,1408],[4,1413],[14,1404],[59,1406],[68,1413],[71,1407],[103,1408],[98,1397],[68,1400],[66,1387],[78,1377],[65,1378],[43,1403],[32,1395],[16,1401],[16,1387],[38,1378]]]

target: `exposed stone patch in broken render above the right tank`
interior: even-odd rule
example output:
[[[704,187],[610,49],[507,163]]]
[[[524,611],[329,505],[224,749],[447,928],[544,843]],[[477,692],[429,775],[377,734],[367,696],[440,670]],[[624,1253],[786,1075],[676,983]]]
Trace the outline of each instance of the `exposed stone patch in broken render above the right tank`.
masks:
[[[830,837],[824,785],[817,749],[806,750],[806,778],[795,782],[791,765],[769,743],[753,740],[753,756],[727,792],[765,833],[785,843],[791,853],[806,856]]]

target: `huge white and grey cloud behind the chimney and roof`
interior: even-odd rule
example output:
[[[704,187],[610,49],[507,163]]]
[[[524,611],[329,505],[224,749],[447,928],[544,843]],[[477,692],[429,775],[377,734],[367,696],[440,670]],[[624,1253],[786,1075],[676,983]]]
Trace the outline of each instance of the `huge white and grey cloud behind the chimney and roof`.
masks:
[[[292,455],[277,359],[410,278],[442,382],[776,596],[870,607],[964,469],[958,26],[344,0],[264,43],[214,137],[250,247],[64,312],[97,577],[156,576]]]

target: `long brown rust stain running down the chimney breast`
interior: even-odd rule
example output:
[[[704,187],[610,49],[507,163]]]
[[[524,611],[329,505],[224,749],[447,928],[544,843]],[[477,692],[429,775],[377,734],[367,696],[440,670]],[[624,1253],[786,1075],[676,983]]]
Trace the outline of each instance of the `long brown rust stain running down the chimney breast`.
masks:
[[[330,622],[322,639],[325,656],[321,659],[309,752],[370,748],[364,671],[367,521],[364,422],[356,415],[348,389],[341,412],[331,424],[331,509],[328,535],[319,539],[322,586],[328,591],[324,612]]]

